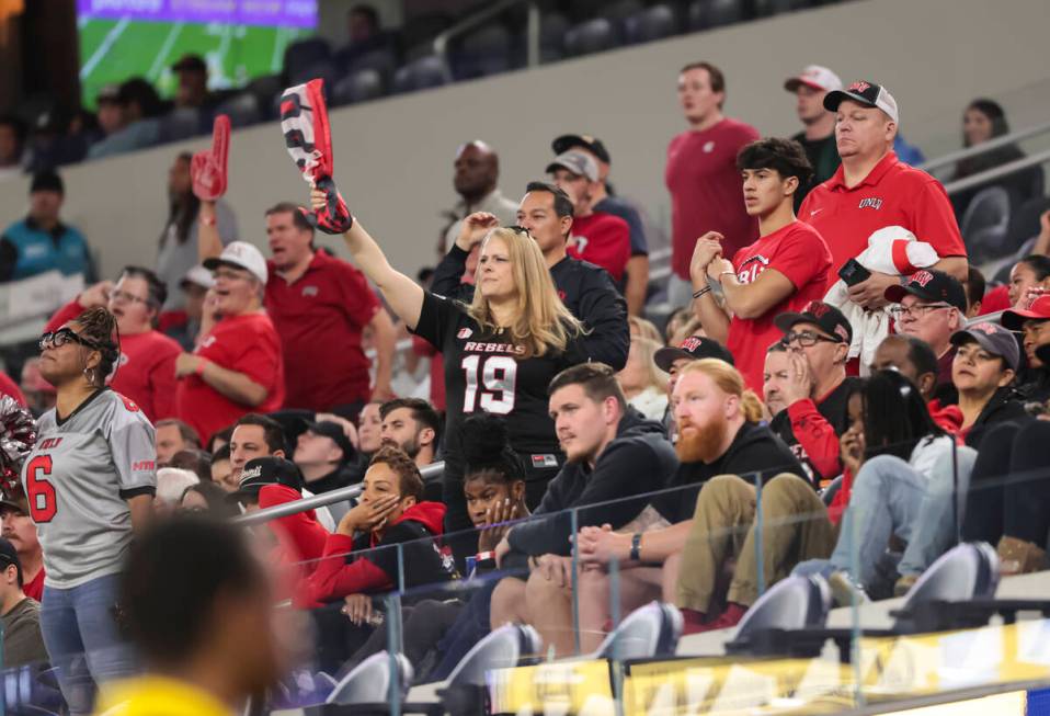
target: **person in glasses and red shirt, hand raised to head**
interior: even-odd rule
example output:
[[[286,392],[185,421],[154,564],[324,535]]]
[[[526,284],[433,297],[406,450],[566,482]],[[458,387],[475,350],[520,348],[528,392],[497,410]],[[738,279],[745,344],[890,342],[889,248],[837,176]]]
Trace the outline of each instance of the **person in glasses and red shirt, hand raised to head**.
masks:
[[[96,283],[52,316],[47,328],[57,330],[89,308],[106,308],[121,332],[121,357],[109,384],[134,400],[151,422],[175,414],[175,357],[179,343],[157,330],[168,288],[157,274],[141,266],[125,266],[116,285]]]

